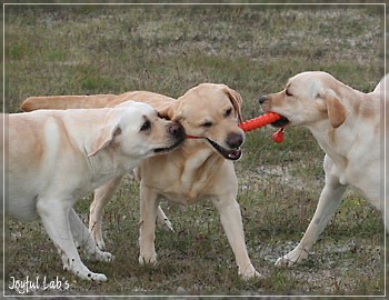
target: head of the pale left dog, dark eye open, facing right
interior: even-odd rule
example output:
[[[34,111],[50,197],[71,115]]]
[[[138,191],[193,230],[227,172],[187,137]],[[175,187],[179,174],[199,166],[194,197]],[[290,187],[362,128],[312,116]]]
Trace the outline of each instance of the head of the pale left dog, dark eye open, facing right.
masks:
[[[109,110],[89,157],[110,149],[127,158],[148,158],[169,152],[184,140],[180,123],[160,118],[146,103],[126,101]]]

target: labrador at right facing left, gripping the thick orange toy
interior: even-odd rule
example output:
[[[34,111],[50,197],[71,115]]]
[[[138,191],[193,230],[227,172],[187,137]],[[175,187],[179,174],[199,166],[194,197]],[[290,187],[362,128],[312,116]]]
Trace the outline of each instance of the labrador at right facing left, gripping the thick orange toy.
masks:
[[[302,72],[289,79],[282,91],[260,97],[265,111],[283,117],[275,126],[307,127],[326,152],[326,184],[315,216],[300,243],[279,258],[276,266],[292,266],[308,257],[347,187],[355,188],[382,211],[388,229],[389,211],[385,210],[381,190],[387,182],[380,173],[383,166],[380,110],[385,101],[385,82],[389,84],[388,77],[373,92],[363,93],[326,72]]]

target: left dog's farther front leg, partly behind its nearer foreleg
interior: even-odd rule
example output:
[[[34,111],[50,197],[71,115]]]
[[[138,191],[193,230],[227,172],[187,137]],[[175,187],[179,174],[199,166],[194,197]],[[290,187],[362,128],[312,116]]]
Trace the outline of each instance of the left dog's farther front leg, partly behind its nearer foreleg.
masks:
[[[103,252],[96,244],[87,227],[82,223],[80,218],[77,216],[74,209],[69,212],[70,230],[78,247],[82,247],[88,257],[91,260],[99,260],[109,262],[113,259],[113,256],[109,252]]]

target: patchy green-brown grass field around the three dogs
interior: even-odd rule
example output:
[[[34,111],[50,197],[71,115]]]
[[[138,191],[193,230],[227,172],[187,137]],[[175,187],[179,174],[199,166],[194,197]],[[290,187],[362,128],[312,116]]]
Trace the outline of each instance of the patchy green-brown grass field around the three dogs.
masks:
[[[306,70],[323,70],[368,92],[383,76],[383,6],[6,6],[6,108],[17,112],[40,94],[149,90],[171,97],[201,82],[226,83],[243,98],[246,119],[260,94]],[[308,261],[277,269],[306,230],[323,184],[323,152],[310,132],[247,134],[236,163],[249,256],[263,278],[237,276],[232,251],[210,201],[162,203],[176,232],[157,230],[159,263],[139,267],[139,188],[129,176],[107,207],[112,263],[86,262],[109,281],[62,271],[40,222],[7,222],[7,294],[12,278],[68,281],[69,289],[32,294],[93,296],[382,296],[383,226],[352,192]],[[377,146],[378,147],[378,146]],[[361,170],[362,171],[362,170]],[[161,170],[162,172],[162,170]],[[88,220],[90,199],[77,203]]]

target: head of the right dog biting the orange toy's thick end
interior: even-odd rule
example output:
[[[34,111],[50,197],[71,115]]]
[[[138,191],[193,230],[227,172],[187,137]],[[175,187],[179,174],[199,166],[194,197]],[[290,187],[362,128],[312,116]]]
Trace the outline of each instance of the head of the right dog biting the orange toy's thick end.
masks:
[[[328,120],[332,128],[341,126],[347,109],[340,90],[346,87],[326,72],[302,72],[290,78],[278,93],[259,98],[265,111],[283,118],[272,123],[276,127],[310,126]]]

